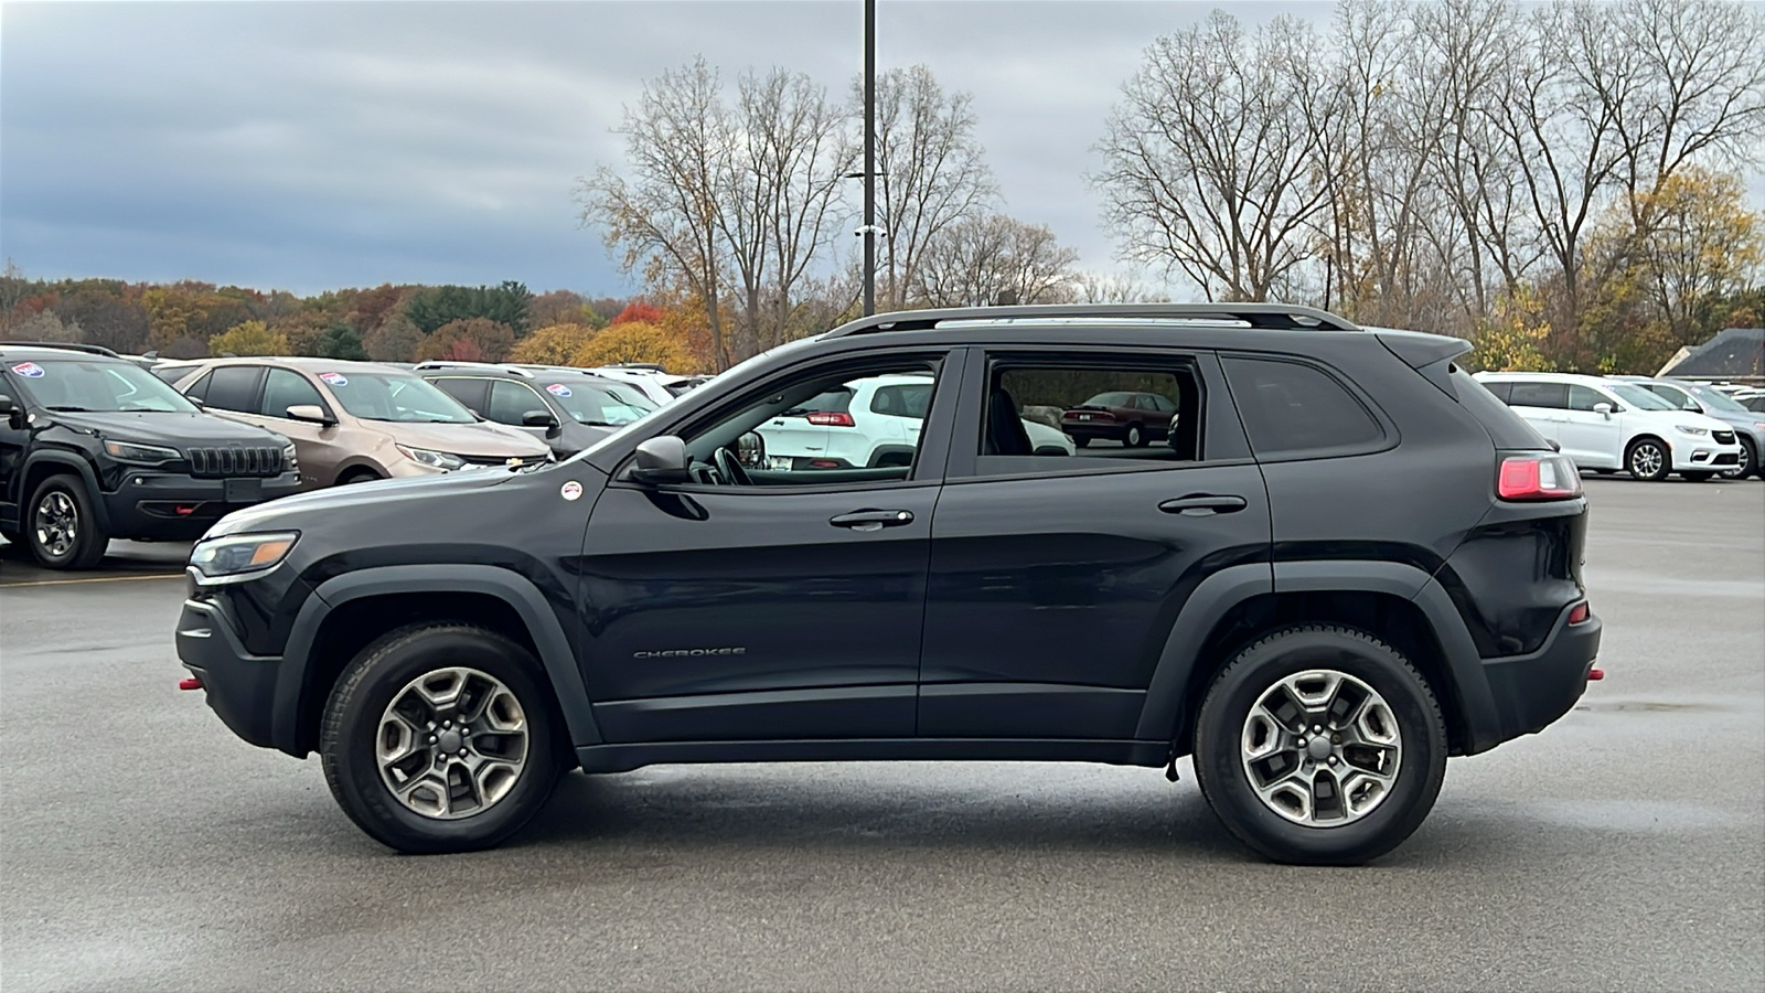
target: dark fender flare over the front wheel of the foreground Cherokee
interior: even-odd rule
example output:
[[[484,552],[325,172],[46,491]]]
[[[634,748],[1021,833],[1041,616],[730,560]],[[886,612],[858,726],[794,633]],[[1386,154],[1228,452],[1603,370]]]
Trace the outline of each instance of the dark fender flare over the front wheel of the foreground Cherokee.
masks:
[[[602,742],[570,640],[528,578],[496,565],[381,565],[327,580],[302,604],[277,675],[275,747],[311,753],[344,666],[381,634],[425,620],[478,624],[528,648],[572,744]]]

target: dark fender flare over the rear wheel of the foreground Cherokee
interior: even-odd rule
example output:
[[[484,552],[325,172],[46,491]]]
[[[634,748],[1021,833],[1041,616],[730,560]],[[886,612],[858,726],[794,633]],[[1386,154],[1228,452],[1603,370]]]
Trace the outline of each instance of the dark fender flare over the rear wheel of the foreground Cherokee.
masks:
[[[1483,659],[1446,588],[1416,565],[1377,560],[1276,562],[1273,569],[1234,565],[1204,580],[1170,629],[1147,686],[1135,737],[1168,740],[1174,735],[1183,709],[1190,703],[1184,693],[1195,659],[1227,611],[1255,595],[1306,590],[1389,594],[1416,604],[1440,643],[1440,663],[1453,680],[1449,689],[1468,731],[1465,751],[1486,751],[1502,740],[1500,716]]]

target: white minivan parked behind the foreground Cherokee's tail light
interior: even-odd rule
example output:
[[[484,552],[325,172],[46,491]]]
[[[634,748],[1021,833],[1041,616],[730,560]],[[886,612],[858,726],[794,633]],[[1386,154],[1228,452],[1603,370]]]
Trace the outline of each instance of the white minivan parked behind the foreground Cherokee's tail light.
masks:
[[[1677,410],[1636,383],[1567,373],[1477,373],[1580,468],[1636,479],[1709,479],[1740,465],[1731,424]]]

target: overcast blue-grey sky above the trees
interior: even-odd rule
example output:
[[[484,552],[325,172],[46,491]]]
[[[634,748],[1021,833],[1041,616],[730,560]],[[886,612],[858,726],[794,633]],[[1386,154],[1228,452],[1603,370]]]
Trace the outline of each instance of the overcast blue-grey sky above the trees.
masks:
[[[1091,147],[1145,44],[1214,5],[882,0],[877,65],[971,92],[1006,210],[1108,269]],[[861,32],[858,0],[7,0],[0,253],[49,279],[630,292],[572,186],[620,163],[642,81],[702,53],[844,95]]]

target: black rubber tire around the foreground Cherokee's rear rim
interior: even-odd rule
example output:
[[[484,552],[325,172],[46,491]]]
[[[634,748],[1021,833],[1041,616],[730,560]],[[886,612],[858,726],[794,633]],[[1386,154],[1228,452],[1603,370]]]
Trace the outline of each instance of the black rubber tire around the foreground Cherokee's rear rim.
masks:
[[[1251,788],[1241,747],[1251,707],[1281,678],[1317,668],[1377,691],[1401,746],[1384,799],[1329,827],[1297,823],[1266,806]],[[1290,627],[1239,652],[1207,689],[1193,744],[1195,777],[1227,830],[1276,862],[1303,866],[1354,866],[1391,852],[1433,809],[1446,777],[1446,721],[1428,682],[1389,645],[1348,627]]]

